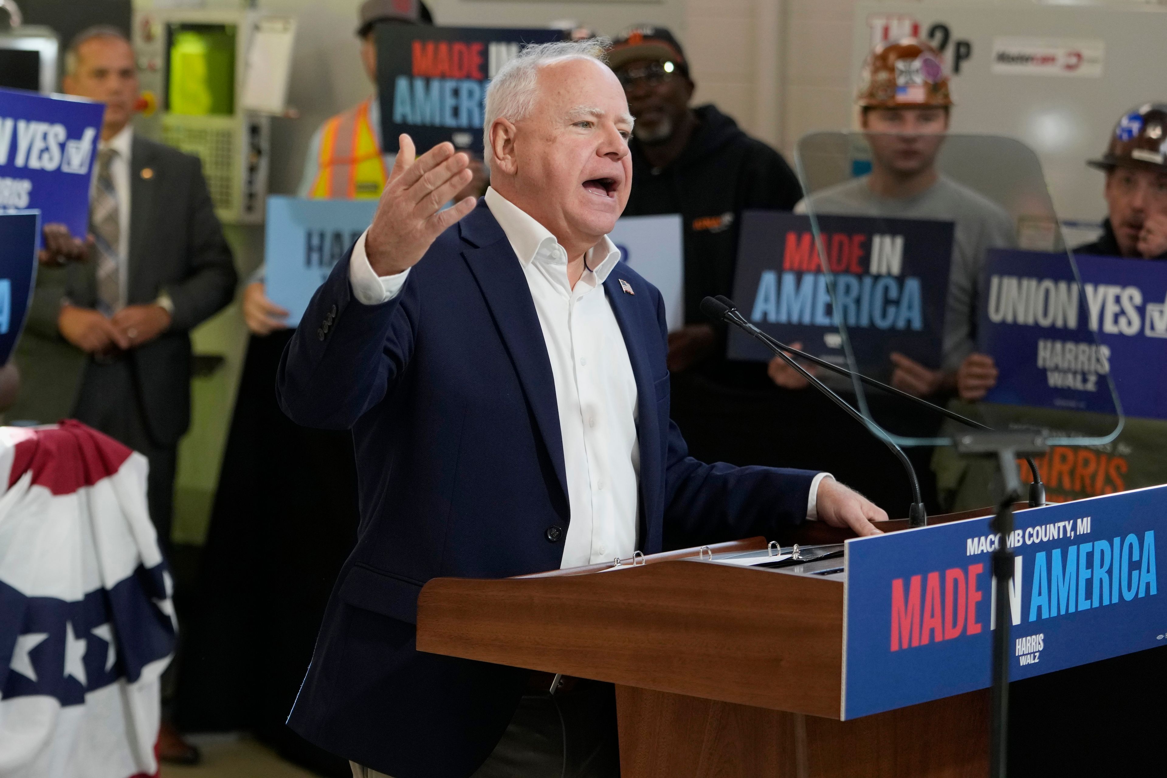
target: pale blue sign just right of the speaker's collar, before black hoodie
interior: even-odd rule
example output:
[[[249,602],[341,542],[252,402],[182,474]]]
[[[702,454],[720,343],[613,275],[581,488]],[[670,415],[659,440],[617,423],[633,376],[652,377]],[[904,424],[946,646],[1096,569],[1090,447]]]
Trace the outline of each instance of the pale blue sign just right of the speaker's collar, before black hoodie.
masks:
[[[644,276],[664,296],[669,331],[685,323],[685,250],[680,213],[626,216],[608,238],[621,261]]]

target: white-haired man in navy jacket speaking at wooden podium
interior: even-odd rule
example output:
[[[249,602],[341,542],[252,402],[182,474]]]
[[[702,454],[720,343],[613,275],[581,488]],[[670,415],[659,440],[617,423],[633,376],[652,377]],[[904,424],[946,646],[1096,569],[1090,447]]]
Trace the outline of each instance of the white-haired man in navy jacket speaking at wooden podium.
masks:
[[[356,776],[616,776],[612,687],[414,649],[436,576],[502,577],[886,514],[825,474],[704,464],[669,421],[661,294],[607,233],[633,118],[606,41],[529,47],[484,111],[491,189],[401,150],[280,364],[299,423],[351,428],[356,549],[288,724]],[[322,517],[322,520],[327,520]],[[548,614],[553,617],[553,614]]]

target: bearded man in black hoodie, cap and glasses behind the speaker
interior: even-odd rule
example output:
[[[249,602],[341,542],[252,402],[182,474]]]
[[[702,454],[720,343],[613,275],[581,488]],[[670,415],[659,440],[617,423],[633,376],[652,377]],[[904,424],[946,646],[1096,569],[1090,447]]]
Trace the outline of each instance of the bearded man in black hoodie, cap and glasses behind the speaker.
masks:
[[[789,211],[802,187],[782,155],[713,105],[690,107],[693,84],[680,43],[663,27],[637,26],[608,50],[636,118],[634,181],[626,216],[680,213],[685,324],[669,334],[673,418],[700,456],[774,460],[757,413],[774,402],[761,363],[727,362],[726,331],[700,311],[706,295],[732,295],[746,209]]]

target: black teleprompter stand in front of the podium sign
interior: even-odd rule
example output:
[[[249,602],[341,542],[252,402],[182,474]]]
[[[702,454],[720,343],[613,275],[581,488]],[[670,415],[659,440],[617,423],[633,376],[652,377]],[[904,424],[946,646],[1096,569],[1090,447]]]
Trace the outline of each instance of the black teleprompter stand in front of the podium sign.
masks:
[[[1034,433],[969,432],[956,439],[956,450],[959,454],[995,457],[1005,482],[1005,496],[997,506],[997,516],[992,523],[1000,541],[993,552],[993,577],[997,580],[993,614],[997,630],[993,632],[993,686],[990,696],[992,723],[988,775],[991,778],[1005,778],[1008,761],[1009,624],[1012,623],[1008,584],[1013,579],[1013,549],[1006,539],[1013,534],[1013,504],[1021,498],[1018,457],[1043,454],[1048,448],[1044,436]],[[1032,462],[1033,460],[1030,468],[1034,467]],[[1044,503],[1044,495],[1034,493],[1035,488],[1041,488],[1036,472],[1033,481],[1029,488],[1029,504],[1036,502],[1040,505]]]

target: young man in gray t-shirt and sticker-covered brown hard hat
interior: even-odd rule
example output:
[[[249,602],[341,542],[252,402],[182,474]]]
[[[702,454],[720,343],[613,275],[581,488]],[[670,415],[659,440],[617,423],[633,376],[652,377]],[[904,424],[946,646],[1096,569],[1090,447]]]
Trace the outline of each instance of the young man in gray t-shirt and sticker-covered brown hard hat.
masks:
[[[917,397],[956,391],[964,400],[978,400],[997,380],[992,358],[976,353],[973,338],[980,269],[986,250],[1014,244],[1013,219],[936,169],[952,100],[935,49],[910,38],[878,47],[865,64],[857,101],[872,171],[809,195],[796,211],[953,222],[941,366],[893,352],[890,383]],[[805,385],[777,358],[769,373],[787,388]]]

